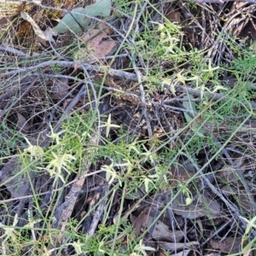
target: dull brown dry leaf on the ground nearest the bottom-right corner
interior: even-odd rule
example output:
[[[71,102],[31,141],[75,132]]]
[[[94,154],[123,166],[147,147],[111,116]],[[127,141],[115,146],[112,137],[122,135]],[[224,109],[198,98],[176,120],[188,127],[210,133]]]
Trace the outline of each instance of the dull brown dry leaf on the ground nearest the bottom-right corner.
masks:
[[[210,240],[213,249],[220,250],[223,253],[239,253],[241,245],[241,237],[228,237],[224,241]]]

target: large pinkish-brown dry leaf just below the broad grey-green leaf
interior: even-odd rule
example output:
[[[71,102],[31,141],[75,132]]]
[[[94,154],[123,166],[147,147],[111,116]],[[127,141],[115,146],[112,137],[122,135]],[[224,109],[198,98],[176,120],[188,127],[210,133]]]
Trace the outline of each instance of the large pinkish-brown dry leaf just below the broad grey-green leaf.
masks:
[[[90,39],[91,37],[94,38]],[[95,62],[99,58],[106,57],[116,45],[112,39],[108,38],[106,33],[98,29],[92,29],[90,32],[87,32],[81,40],[87,42],[87,48],[79,49],[74,56],[75,61],[94,60],[93,62]],[[75,68],[78,67],[76,66]]]

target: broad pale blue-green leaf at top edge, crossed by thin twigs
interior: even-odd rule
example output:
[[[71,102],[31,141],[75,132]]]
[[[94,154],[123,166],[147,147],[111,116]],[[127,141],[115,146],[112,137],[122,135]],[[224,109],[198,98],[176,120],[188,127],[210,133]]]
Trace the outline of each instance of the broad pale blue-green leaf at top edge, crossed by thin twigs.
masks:
[[[96,0],[96,3],[86,6],[85,8],[73,9],[72,12],[78,14],[67,14],[61,22],[55,26],[54,30],[58,33],[81,32],[88,26],[90,19],[84,17],[89,15],[91,17],[110,15],[111,0]]]

